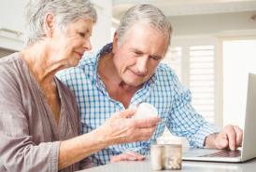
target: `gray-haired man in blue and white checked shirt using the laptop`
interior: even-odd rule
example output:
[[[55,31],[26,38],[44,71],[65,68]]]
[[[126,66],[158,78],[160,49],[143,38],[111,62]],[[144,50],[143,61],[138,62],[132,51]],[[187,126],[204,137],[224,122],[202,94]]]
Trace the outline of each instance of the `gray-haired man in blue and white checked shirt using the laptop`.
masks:
[[[235,150],[242,142],[238,126],[218,131],[191,105],[191,93],[177,75],[160,63],[170,45],[171,25],[162,11],[150,5],[130,8],[121,19],[113,43],[94,55],[85,55],[78,67],[60,73],[62,81],[78,99],[82,132],[104,123],[110,114],[149,102],[162,122],[151,139],[110,146],[92,154],[92,161],[141,160],[149,144],[166,126],[174,135],[186,137],[192,147]]]

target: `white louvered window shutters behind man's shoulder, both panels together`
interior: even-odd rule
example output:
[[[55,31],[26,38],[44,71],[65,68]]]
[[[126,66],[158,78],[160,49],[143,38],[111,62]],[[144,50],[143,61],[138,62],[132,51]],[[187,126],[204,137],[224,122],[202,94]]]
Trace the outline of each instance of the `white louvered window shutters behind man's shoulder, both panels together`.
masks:
[[[194,109],[214,123],[215,46],[170,47],[163,62],[178,74],[181,83],[189,86]],[[182,73],[188,76],[183,78]]]

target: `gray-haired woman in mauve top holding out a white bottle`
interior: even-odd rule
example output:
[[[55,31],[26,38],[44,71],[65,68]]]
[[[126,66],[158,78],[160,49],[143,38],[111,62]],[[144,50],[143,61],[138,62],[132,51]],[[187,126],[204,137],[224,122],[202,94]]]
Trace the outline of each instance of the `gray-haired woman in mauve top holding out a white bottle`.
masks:
[[[54,75],[91,49],[96,12],[88,0],[29,0],[27,46],[0,60],[0,171],[75,171],[111,144],[149,139],[159,118],[117,112],[78,136],[75,97]]]

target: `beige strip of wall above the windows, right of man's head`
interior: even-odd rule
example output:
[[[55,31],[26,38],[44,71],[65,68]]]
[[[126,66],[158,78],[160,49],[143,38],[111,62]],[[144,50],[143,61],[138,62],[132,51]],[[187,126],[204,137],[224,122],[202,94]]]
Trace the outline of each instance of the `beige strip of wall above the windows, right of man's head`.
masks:
[[[218,35],[223,33],[235,33],[237,31],[254,31],[256,34],[256,21],[251,16],[256,11],[204,14],[192,16],[170,17],[176,36],[192,35]]]

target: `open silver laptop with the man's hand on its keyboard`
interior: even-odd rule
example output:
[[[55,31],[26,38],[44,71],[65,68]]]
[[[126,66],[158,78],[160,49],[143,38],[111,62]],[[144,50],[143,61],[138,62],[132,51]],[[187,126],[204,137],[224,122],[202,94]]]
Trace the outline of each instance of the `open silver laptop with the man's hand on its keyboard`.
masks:
[[[246,116],[242,148],[236,151],[190,149],[182,160],[209,162],[245,162],[256,157],[256,74],[249,73]]]

